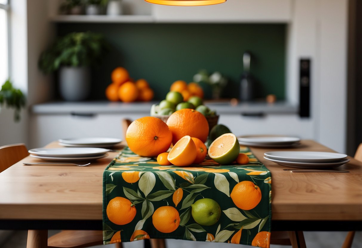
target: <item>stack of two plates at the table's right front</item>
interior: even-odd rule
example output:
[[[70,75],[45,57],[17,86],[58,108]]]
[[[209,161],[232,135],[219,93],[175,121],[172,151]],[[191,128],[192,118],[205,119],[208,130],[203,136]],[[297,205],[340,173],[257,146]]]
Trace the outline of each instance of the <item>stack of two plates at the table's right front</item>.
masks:
[[[269,151],[264,158],[277,164],[298,168],[331,168],[348,163],[346,154],[324,151]]]

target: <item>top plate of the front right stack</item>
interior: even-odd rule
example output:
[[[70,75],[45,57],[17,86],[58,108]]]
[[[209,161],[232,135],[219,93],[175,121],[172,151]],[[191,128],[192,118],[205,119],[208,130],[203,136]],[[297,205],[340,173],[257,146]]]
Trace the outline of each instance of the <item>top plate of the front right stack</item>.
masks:
[[[335,163],[347,157],[346,154],[324,151],[268,151],[264,156],[279,161],[302,163]]]

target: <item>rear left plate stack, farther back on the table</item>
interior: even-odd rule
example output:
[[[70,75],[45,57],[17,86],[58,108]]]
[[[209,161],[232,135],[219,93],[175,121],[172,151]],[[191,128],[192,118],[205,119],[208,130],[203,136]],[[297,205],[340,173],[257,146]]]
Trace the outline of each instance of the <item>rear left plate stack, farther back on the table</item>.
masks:
[[[119,138],[65,138],[60,139],[59,145],[68,147],[111,147],[118,145],[122,140]]]

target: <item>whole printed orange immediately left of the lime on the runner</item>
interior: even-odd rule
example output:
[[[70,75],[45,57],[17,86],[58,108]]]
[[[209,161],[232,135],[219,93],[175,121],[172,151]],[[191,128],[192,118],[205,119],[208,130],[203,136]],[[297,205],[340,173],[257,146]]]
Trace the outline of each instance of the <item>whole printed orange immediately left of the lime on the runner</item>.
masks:
[[[173,232],[180,225],[180,215],[172,206],[162,206],[152,215],[153,226],[160,232]]]

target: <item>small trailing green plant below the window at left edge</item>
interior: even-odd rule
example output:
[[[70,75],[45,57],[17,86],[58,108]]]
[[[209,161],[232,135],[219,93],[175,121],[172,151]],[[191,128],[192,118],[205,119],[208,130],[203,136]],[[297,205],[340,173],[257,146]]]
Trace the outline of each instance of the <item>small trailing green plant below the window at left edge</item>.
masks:
[[[0,105],[6,104],[8,108],[14,108],[14,120],[20,121],[20,110],[25,106],[25,96],[20,89],[15,89],[10,80],[7,80],[0,90]]]

